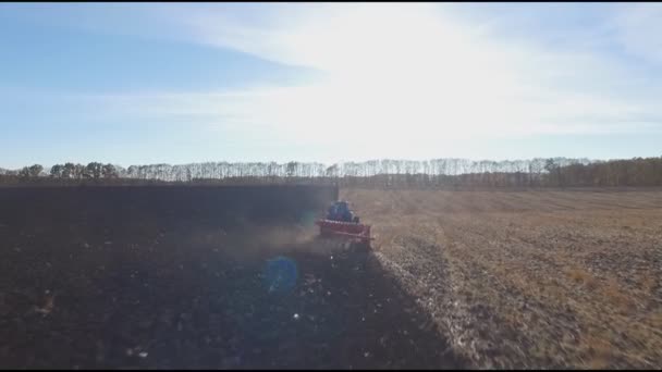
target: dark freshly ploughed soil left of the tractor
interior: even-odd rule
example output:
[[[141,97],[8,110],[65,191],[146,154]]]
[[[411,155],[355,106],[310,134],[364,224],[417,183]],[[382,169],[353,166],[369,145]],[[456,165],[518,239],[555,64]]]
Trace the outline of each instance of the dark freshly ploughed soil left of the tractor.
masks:
[[[335,188],[0,188],[0,368],[453,368]]]

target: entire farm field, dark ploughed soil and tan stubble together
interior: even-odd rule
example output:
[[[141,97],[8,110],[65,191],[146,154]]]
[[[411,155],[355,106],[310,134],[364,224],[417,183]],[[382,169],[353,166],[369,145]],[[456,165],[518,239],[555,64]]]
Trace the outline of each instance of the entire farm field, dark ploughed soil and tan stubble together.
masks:
[[[0,368],[660,368],[662,190],[0,188]]]

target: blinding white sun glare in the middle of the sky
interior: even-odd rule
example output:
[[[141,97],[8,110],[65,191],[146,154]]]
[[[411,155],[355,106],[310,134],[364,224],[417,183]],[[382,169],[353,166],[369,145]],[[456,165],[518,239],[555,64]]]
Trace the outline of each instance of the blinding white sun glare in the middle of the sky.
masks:
[[[258,98],[265,122],[307,142],[329,141],[319,128],[333,127],[371,153],[388,153],[403,140],[471,136],[522,116],[506,101],[515,94],[513,74],[438,8],[343,10],[281,35],[285,49],[328,74]],[[364,140],[371,135],[380,141]]]

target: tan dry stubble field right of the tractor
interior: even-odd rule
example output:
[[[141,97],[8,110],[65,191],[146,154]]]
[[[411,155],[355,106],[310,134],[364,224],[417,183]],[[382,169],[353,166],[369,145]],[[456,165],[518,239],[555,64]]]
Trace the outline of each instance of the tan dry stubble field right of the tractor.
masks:
[[[662,368],[662,190],[344,189],[479,368]]]

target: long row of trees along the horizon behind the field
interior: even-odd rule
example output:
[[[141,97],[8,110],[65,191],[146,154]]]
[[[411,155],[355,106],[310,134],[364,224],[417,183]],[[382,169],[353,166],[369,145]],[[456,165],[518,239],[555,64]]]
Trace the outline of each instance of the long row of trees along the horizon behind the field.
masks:
[[[515,161],[436,159],[321,163],[229,163],[132,165],[90,162],[39,164],[0,172],[1,183],[124,184],[335,184],[342,187],[583,187],[662,186],[662,157],[610,161],[549,158]],[[37,181],[38,179],[38,181]]]

